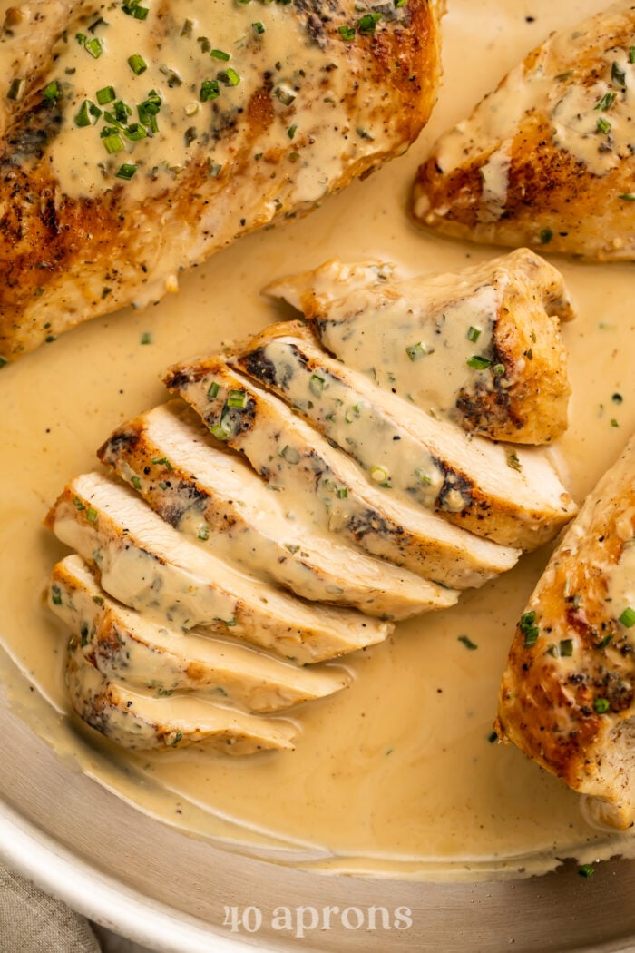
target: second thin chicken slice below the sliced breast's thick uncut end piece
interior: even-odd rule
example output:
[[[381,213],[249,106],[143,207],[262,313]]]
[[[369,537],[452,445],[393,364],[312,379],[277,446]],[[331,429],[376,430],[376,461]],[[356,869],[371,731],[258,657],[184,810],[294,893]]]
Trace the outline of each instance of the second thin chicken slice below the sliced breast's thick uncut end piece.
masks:
[[[505,572],[520,555],[375,489],[346,454],[221,357],[177,365],[166,383],[322,532],[461,589]]]

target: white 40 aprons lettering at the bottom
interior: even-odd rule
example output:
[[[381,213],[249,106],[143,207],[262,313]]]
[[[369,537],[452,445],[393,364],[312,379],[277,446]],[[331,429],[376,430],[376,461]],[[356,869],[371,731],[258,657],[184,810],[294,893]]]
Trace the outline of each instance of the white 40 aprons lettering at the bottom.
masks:
[[[276,906],[263,913],[259,906],[224,906],[223,925],[231,933],[258,933],[263,927],[302,940],[313,930],[409,930],[412,911],[407,906]]]

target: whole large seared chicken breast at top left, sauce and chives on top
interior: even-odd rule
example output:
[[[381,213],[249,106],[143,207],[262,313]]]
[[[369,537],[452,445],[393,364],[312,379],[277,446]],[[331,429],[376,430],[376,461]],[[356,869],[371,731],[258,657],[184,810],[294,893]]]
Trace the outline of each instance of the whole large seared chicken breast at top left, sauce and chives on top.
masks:
[[[0,358],[177,274],[404,152],[439,76],[439,4],[60,3],[0,30]]]

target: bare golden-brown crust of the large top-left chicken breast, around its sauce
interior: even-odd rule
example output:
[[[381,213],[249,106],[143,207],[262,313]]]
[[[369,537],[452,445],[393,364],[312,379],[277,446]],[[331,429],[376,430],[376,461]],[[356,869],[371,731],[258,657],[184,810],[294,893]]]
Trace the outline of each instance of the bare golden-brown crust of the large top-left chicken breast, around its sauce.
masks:
[[[329,179],[328,189],[335,191],[403,152],[420,132],[435,98],[439,35],[436,5],[410,0],[382,30],[358,34],[347,44],[338,28],[355,16],[354,5],[346,0],[331,6],[333,11],[323,16],[315,12],[320,5],[305,0],[286,10],[302,21],[326,63],[334,62],[339,73],[347,70],[350,82],[340,106],[351,125],[379,120],[385,132],[376,148],[350,159]],[[51,48],[59,29],[53,25],[41,42]],[[299,49],[298,56],[303,55]],[[324,91],[329,75],[325,71]],[[182,267],[274,217],[313,206],[294,191],[302,163],[288,161],[288,143],[268,148],[271,87],[270,79],[263,82],[248,102],[240,129],[228,132],[236,151],[217,178],[209,176],[203,154],[169,190],[147,202],[130,200],[121,183],[96,198],[62,193],[48,169],[62,108],[43,104],[41,90],[30,91],[11,117],[0,152],[0,356],[5,361],[89,317],[158,299],[166,279]],[[334,132],[325,130],[329,133],[336,150]],[[261,145],[262,160],[254,163]],[[295,152],[302,157],[309,148],[298,133]],[[280,169],[283,174],[272,178]],[[235,213],[243,203],[249,218]]]

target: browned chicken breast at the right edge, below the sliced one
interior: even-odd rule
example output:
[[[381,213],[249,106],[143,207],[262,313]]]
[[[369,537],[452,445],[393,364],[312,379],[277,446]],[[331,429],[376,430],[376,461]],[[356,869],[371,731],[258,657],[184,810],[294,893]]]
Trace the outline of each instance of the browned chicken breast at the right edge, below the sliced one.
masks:
[[[516,630],[497,728],[589,795],[596,821],[635,822],[635,436],[589,494]]]

